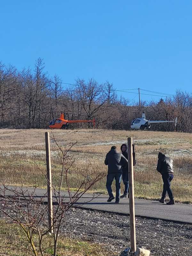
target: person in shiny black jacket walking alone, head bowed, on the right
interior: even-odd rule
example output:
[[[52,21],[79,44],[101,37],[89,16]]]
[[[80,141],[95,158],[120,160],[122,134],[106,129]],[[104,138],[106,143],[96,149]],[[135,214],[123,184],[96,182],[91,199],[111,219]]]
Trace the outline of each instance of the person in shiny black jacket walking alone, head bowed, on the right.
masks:
[[[166,192],[170,198],[170,202],[167,204],[175,204],[175,200],[173,197],[173,193],[171,190],[171,181],[173,179],[173,160],[165,156],[163,153],[159,152],[158,154],[158,163],[157,163],[157,171],[161,173],[163,179],[163,193],[162,197],[159,200],[160,203],[165,203]]]

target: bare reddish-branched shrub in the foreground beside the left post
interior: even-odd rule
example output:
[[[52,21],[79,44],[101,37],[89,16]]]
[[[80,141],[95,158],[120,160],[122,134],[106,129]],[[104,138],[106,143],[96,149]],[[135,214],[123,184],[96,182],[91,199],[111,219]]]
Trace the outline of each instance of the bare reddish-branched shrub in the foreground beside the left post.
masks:
[[[58,148],[58,157],[61,165],[59,183],[52,184],[52,194],[56,198],[55,205],[53,206],[52,227],[49,227],[47,219],[50,217],[45,200],[47,194],[44,194],[39,200],[36,199],[35,187],[32,190],[28,188],[10,188],[3,185],[0,187],[0,212],[4,216],[1,223],[18,224],[26,234],[27,241],[35,256],[44,256],[44,251],[47,249],[43,246],[44,237],[53,229],[53,256],[57,255],[57,243],[60,233],[60,228],[65,220],[68,210],[99,180],[103,179],[104,173],[96,173],[87,169],[82,172],[82,180],[76,192],[71,192],[70,182],[68,179],[69,170],[74,163],[75,159],[70,155],[69,150],[73,144],[64,148],[58,145],[53,135],[52,139],[55,141]],[[62,184],[65,180],[67,184],[68,195],[66,200],[65,195],[62,194]],[[45,175],[45,183],[47,176]],[[93,195],[89,201],[95,196]],[[82,203],[83,204],[83,203]],[[34,236],[37,235],[38,243],[35,242]]]

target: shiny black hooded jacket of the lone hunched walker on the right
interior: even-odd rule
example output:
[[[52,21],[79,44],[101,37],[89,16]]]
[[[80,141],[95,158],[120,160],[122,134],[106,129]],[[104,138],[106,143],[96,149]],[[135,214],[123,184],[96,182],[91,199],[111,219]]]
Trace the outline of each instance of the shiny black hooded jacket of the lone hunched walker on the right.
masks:
[[[163,153],[158,154],[157,171],[163,174],[173,174],[173,160]]]

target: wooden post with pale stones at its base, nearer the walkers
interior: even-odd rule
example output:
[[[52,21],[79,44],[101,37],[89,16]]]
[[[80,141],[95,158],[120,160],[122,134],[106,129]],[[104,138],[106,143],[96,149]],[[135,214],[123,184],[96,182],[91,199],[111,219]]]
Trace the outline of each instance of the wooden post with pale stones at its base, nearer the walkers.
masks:
[[[130,231],[131,231],[131,251],[136,251],[135,235],[135,203],[134,203],[134,180],[133,180],[133,150],[132,138],[127,139],[128,146],[128,172],[129,172],[129,209],[130,209]]]

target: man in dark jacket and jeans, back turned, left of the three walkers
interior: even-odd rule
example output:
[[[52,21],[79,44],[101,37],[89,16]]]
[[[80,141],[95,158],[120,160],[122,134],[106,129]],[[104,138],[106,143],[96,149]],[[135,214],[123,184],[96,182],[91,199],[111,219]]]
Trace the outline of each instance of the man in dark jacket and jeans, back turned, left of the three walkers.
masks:
[[[127,159],[121,154],[117,152],[115,146],[111,147],[111,150],[107,153],[105,158],[105,164],[108,165],[108,175],[107,175],[107,191],[109,194],[108,202],[111,202],[115,197],[113,196],[113,192],[111,189],[111,184],[113,180],[116,181],[116,203],[119,203],[120,198],[120,182],[122,176],[122,166],[126,164]]]

